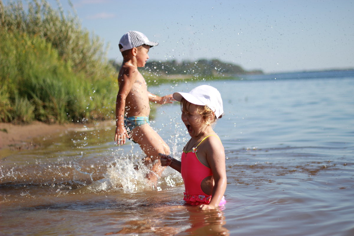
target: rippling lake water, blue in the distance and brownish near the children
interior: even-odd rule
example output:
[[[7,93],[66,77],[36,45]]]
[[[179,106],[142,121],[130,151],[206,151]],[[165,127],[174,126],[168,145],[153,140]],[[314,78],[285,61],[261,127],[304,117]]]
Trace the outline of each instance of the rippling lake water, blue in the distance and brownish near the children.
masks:
[[[226,205],[183,205],[167,168],[153,189],[114,124],[63,133],[1,157],[1,235],[354,235],[354,73],[291,73],[150,87],[160,95],[210,84],[225,115]],[[112,98],[115,100],[115,98]],[[180,108],[156,108],[152,126],[177,159],[189,139]],[[134,169],[139,165],[139,171]]]

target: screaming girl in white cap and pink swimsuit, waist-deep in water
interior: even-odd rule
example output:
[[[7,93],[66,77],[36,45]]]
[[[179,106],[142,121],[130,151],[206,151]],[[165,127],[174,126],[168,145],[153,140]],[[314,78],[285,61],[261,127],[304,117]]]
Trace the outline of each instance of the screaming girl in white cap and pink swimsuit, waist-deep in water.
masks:
[[[201,85],[189,93],[176,92],[173,98],[181,102],[182,121],[190,135],[181,161],[159,154],[162,166],[170,166],[182,174],[184,198],[200,209],[215,209],[225,203],[225,152],[212,124],[223,114],[219,91]]]

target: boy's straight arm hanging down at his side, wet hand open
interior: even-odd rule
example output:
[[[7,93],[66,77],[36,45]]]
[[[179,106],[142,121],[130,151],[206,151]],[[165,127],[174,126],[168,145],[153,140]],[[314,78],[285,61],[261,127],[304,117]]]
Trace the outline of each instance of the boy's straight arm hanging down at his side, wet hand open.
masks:
[[[119,91],[115,104],[115,136],[114,142],[125,144],[125,139],[130,138],[124,127],[125,100],[135,81],[137,70],[132,67],[122,68],[118,77]]]

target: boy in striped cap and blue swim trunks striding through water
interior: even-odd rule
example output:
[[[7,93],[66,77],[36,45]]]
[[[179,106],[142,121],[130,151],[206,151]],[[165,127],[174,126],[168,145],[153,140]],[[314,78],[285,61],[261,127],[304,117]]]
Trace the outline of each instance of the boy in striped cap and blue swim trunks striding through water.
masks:
[[[160,177],[161,168],[159,152],[169,155],[170,148],[149,125],[150,102],[159,104],[172,103],[172,94],[164,97],[156,96],[147,90],[144,77],[138,67],[144,67],[149,58],[150,47],[157,42],[149,41],[141,32],[129,31],[119,41],[123,56],[122,67],[118,75],[119,91],[116,99],[116,129],[114,141],[125,144],[129,138],[138,143],[144,153],[145,165],[151,164],[147,178],[155,183]]]

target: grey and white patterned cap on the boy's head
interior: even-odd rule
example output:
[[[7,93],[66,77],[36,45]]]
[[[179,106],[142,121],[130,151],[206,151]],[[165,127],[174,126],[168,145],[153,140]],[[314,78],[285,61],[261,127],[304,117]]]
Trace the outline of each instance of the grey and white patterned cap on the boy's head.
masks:
[[[149,41],[148,37],[139,31],[129,31],[119,40],[119,48],[121,52],[144,44],[150,47],[158,45],[157,42]]]

